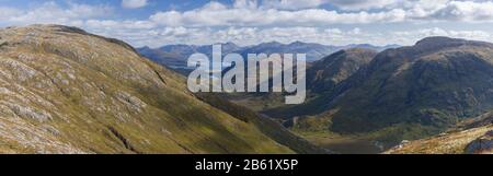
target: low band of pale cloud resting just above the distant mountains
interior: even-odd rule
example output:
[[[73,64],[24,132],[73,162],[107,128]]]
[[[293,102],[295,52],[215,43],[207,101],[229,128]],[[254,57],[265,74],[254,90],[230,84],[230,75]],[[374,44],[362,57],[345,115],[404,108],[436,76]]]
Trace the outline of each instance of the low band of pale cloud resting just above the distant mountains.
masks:
[[[145,22],[141,22],[145,23]],[[88,22],[87,28],[101,35],[122,38],[130,44],[160,47],[167,44],[207,45],[213,43],[233,42],[246,46],[265,42],[293,43],[296,40],[320,43],[326,45],[374,44],[374,45],[413,45],[429,36],[449,36],[466,39],[493,42],[493,33],[480,30],[445,30],[431,27],[409,31],[370,32],[365,28],[336,27],[185,27],[153,26],[141,30],[142,26],[130,22],[102,21]],[[144,25],[145,26],[145,25]]]

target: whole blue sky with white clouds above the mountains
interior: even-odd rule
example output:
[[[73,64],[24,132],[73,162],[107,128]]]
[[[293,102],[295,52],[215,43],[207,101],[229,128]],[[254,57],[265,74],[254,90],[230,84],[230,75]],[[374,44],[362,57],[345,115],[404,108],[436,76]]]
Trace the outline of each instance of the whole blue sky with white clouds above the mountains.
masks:
[[[0,27],[62,24],[135,47],[266,42],[493,43],[492,0],[0,0]]]

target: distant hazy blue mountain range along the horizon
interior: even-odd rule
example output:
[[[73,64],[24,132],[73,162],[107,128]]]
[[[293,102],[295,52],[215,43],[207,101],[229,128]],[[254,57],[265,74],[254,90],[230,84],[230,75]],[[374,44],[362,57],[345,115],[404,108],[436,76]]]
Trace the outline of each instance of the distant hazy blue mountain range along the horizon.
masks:
[[[351,44],[345,46],[322,45],[314,43],[294,42],[290,44],[282,44],[278,42],[262,43],[252,46],[238,46],[233,43],[219,44],[222,46],[222,54],[237,52],[246,58],[248,54],[307,54],[307,61],[319,60],[330,54],[341,49],[348,48],[366,48],[381,51],[388,48],[399,47],[398,45],[374,46],[369,44]],[[137,48],[138,52],[151,60],[164,64],[179,72],[186,73],[186,60],[188,56],[195,52],[211,56],[211,45],[167,45],[159,48],[141,47]]]

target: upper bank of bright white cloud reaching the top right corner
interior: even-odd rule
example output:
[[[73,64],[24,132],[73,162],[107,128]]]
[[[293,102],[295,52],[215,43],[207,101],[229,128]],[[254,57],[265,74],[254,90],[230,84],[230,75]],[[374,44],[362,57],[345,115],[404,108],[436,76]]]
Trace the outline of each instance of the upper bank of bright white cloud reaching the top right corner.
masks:
[[[241,0],[228,7],[210,2],[203,8],[179,11],[163,11],[150,16],[150,20],[169,26],[313,26],[330,24],[368,24],[420,21],[463,21],[493,22],[493,2],[490,1],[342,1],[330,0],[345,9],[383,8],[379,11],[335,11],[325,9],[279,10],[265,9],[268,2],[278,5],[301,3],[298,1],[267,1],[257,5],[256,1]],[[284,3],[283,3],[284,2]],[[310,4],[312,1],[307,1]],[[313,5],[322,3],[313,1]],[[375,4],[378,4],[376,7]],[[311,5],[308,5],[311,7]],[[395,8],[390,8],[395,7]],[[277,7],[278,8],[278,7]],[[389,8],[389,9],[387,9]],[[280,8],[283,9],[283,7]],[[245,15],[248,14],[248,15]]]

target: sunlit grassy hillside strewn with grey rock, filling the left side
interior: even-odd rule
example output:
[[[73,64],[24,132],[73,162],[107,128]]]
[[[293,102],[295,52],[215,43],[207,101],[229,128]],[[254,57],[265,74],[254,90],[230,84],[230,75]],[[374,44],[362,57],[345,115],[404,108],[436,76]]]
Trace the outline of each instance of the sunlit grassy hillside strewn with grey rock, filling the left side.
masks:
[[[9,27],[0,62],[0,153],[293,153],[116,39]]]

